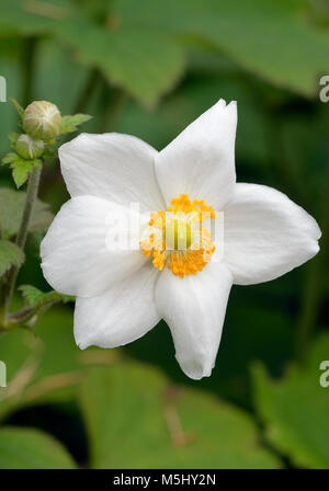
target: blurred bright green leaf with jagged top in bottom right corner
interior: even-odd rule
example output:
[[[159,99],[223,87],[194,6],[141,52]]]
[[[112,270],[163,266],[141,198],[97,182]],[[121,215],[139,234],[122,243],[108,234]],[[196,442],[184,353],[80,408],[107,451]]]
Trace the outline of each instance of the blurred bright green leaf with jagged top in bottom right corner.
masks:
[[[320,363],[329,359],[329,335],[315,342],[306,365],[272,380],[261,365],[253,369],[257,409],[268,441],[298,467],[329,467],[329,388],[320,385]]]

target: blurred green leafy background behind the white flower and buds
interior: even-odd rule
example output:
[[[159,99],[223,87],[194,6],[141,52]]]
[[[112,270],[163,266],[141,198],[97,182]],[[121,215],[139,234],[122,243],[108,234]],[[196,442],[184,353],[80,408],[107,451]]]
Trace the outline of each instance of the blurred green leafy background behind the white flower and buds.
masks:
[[[320,253],[268,284],[235,286],[216,368],[188,379],[160,322],[120,350],[80,352],[72,305],[0,338],[0,468],[328,468],[329,75],[326,0],[2,0],[0,75],[26,105],[84,112],[89,133],[163,148],[219,98],[238,101],[238,180],[316,217]],[[329,93],[329,92],[328,92]],[[0,103],[0,155],[16,130]],[[0,169],[0,185],[13,187]],[[68,198],[57,162],[39,197]],[[20,283],[49,287],[30,235]],[[19,301],[19,300],[18,300]]]

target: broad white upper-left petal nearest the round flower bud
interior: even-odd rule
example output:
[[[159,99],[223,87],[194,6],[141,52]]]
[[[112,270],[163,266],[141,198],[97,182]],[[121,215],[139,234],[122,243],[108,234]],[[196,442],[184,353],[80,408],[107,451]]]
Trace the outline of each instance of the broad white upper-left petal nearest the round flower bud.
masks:
[[[163,209],[155,175],[157,151],[139,138],[110,133],[81,134],[59,148],[61,172],[71,196],[90,194],[141,210]]]

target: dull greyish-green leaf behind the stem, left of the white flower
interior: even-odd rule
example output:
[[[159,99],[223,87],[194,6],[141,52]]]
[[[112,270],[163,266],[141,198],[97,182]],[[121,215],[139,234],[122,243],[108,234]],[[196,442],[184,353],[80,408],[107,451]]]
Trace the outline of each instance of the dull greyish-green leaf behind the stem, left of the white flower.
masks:
[[[10,239],[18,233],[23,216],[26,193],[8,187],[0,189],[0,232],[3,239]],[[49,205],[37,199],[32,213],[29,230],[43,232],[53,220]]]

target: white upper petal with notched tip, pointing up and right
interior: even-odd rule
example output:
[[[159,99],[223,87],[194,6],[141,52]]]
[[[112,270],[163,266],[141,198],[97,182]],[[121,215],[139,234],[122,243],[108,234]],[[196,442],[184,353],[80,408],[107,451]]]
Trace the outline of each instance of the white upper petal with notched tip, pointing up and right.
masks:
[[[237,105],[217,104],[202,114],[156,157],[156,171],[169,205],[189,194],[220,209],[236,182]]]

